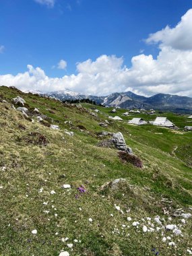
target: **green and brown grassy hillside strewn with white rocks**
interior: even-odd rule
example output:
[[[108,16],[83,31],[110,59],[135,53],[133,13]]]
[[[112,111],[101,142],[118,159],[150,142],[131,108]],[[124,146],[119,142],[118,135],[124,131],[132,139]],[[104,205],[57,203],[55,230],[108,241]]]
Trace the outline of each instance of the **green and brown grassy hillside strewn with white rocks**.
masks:
[[[123,117],[123,122],[113,121],[103,128],[98,123],[108,119],[110,108],[98,107],[100,113],[96,119],[86,110],[0,87],[0,97],[8,102],[18,95],[30,108],[37,107],[40,113],[53,118],[53,124],[58,124],[61,130],[51,130],[37,121],[31,123],[9,103],[0,103],[1,256],[59,255],[62,249],[70,255],[154,255],[153,248],[160,255],[188,255],[191,220],[181,226],[181,237],[165,230],[143,233],[143,224],[148,228],[150,224],[141,218],[154,218],[158,214],[164,218],[164,224],[179,226],[181,218],[174,217],[175,210],[182,207],[184,212],[191,211],[191,132],[128,125],[127,120],[132,117]],[[49,113],[48,108],[53,108],[55,114]],[[123,112],[118,110],[115,115],[121,116]],[[166,116],[179,127],[187,124],[187,116],[172,113]],[[73,126],[65,121],[71,121]],[[20,129],[20,125],[26,130]],[[77,125],[84,125],[86,131],[79,131]],[[74,131],[75,135],[65,134],[64,129]],[[117,150],[98,148],[100,138],[96,132],[102,130],[121,131],[127,145],[143,161],[144,168],[123,164]],[[46,137],[47,146],[26,142],[28,133],[34,131]],[[3,167],[6,170],[1,170]],[[119,178],[126,182],[117,189],[100,189]],[[71,189],[62,189],[63,184],[70,184]],[[84,185],[87,191],[75,198],[79,185]],[[51,195],[52,190],[55,195]],[[43,205],[46,201],[48,204]],[[115,209],[115,203],[123,214]],[[168,215],[164,215],[165,208]],[[128,216],[131,222],[127,221]],[[170,216],[172,220],[168,220]],[[140,222],[139,228],[132,226],[133,221]],[[151,222],[155,228],[158,226],[154,220]],[[37,235],[31,233],[34,229],[38,230]],[[172,236],[171,241],[177,247],[162,243],[163,236]],[[65,237],[69,237],[69,241],[63,243],[61,238]],[[81,243],[74,243],[74,239]],[[73,243],[73,251],[67,243]]]

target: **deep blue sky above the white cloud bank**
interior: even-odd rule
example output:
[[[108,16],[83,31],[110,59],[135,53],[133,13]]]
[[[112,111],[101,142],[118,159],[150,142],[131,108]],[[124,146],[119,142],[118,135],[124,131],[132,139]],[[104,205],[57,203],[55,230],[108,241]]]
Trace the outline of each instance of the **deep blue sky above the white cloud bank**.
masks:
[[[192,1],[1,0],[0,5],[0,75],[24,73],[32,65],[48,77],[63,77],[79,73],[76,63],[102,55],[123,57],[127,68],[141,53],[156,59],[158,43],[143,39],[177,26]],[[61,59],[65,69],[57,68]]]

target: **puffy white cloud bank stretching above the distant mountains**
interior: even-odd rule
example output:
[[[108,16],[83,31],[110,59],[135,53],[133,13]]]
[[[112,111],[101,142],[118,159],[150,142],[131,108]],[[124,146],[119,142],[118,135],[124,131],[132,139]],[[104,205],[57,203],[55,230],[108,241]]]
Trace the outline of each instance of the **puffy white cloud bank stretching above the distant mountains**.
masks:
[[[0,75],[0,85],[42,92],[68,88],[84,94],[107,95],[131,90],[146,96],[169,93],[192,97],[191,38],[192,9],[189,9],[177,26],[166,26],[146,39],[147,44],[157,44],[160,49],[157,59],[152,55],[137,55],[128,68],[123,65],[123,57],[102,55],[95,61],[76,63],[77,74],[61,78],[48,77],[40,67],[28,65],[25,73]],[[67,66],[64,62],[60,64],[62,69]]]

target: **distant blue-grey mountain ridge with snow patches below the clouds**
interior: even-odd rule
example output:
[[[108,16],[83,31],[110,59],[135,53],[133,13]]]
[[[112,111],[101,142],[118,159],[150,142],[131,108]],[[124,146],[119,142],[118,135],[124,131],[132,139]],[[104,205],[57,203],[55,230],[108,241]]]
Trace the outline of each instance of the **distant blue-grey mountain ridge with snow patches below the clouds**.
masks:
[[[93,96],[86,94],[79,94],[70,90],[49,92],[40,94],[42,96],[50,96],[58,100],[82,100],[89,98],[94,100],[97,104],[104,104],[104,106],[114,106],[121,108],[154,108],[158,110],[173,111],[178,113],[192,112],[192,98],[187,96],[177,96],[171,94],[156,94],[151,97],[145,97],[134,94],[133,92],[114,92],[108,96]]]

